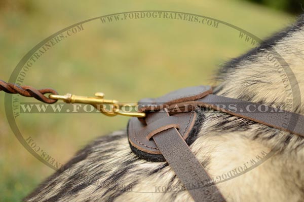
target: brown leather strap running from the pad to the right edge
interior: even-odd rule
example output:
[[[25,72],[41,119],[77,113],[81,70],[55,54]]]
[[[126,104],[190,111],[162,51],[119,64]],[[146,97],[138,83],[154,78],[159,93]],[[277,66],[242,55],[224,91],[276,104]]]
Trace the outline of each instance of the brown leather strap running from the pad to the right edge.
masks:
[[[189,105],[209,107],[304,137],[304,116],[240,99],[209,94],[192,102],[170,106],[168,109],[184,106],[188,108]]]

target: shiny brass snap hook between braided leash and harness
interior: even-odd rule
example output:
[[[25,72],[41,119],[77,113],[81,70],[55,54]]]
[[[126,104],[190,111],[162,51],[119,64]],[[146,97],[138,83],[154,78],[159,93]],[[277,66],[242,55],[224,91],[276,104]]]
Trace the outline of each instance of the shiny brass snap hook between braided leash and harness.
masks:
[[[79,95],[72,95],[72,94],[65,94],[65,95],[49,95],[51,99],[61,99],[65,103],[81,103],[81,104],[88,104],[94,106],[97,110],[107,116],[116,116],[116,115],[123,115],[123,116],[130,116],[130,117],[145,117],[145,113],[142,112],[124,112],[121,110],[122,107],[136,107],[137,103],[132,104],[124,104],[119,103],[115,99],[104,99],[104,94],[102,92],[96,92],[95,97],[86,97],[86,96],[79,96]],[[107,110],[104,105],[109,105],[110,109]]]

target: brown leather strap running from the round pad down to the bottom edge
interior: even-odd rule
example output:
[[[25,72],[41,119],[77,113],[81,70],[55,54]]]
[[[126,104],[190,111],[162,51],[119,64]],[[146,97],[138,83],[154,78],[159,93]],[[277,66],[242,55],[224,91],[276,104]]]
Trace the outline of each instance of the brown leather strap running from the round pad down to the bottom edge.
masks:
[[[169,114],[165,111],[150,113],[146,123],[149,125],[166,117]],[[225,201],[176,128],[155,134],[153,140],[195,201]]]

